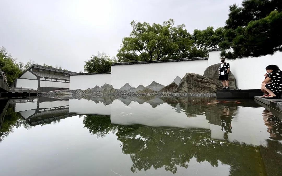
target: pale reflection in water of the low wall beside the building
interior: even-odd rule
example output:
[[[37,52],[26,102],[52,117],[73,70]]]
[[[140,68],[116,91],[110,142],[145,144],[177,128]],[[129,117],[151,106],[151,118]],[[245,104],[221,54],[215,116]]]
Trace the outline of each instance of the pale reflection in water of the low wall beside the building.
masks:
[[[104,103],[85,99],[70,99],[69,100],[69,112],[76,114],[99,114],[99,115],[111,115],[111,104],[104,105]]]

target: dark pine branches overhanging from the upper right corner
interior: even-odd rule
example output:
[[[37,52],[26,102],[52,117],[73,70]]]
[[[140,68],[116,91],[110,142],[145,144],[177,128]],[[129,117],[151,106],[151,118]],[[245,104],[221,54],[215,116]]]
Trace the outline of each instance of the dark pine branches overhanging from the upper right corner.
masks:
[[[221,55],[236,59],[282,51],[281,10],[281,0],[247,0],[242,7],[230,6],[225,39],[219,46],[232,51],[222,51]]]

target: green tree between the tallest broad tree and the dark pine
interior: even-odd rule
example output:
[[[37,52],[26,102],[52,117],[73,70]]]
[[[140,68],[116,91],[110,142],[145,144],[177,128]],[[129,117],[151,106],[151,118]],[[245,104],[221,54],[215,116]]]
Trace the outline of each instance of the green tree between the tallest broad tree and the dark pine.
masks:
[[[194,48],[194,52],[202,57],[208,56],[208,51],[217,48],[223,38],[223,28],[213,30],[213,26],[208,26],[205,30],[195,29],[192,39],[195,41],[194,44],[198,51]]]

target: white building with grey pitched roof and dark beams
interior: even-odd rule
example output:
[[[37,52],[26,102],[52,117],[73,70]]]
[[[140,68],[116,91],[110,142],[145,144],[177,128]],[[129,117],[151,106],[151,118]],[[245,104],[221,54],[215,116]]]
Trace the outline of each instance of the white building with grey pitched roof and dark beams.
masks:
[[[32,65],[16,80],[17,88],[34,88],[39,92],[69,89],[70,74],[76,72]]]

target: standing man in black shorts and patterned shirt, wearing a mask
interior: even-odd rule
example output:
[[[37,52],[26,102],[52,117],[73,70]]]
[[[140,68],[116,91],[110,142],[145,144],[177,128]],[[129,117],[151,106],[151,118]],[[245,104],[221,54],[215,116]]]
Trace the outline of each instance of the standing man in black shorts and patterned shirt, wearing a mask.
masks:
[[[219,65],[218,68],[218,73],[219,73],[219,80],[221,80],[223,84],[223,90],[229,90],[229,81],[228,81],[228,74],[230,72],[230,65],[225,62],[225,58],[221,57],[221,64]]]

